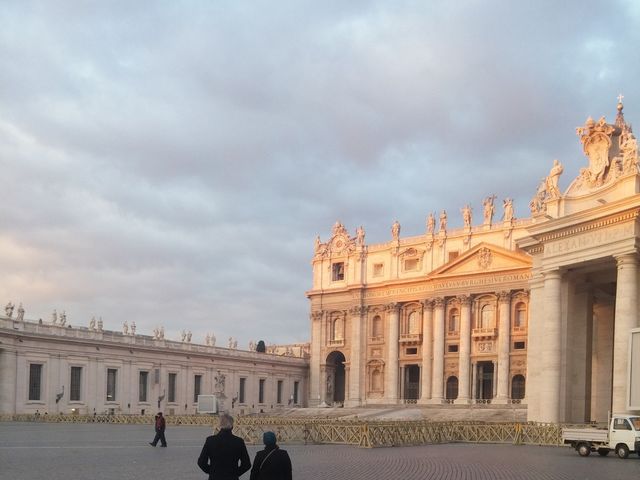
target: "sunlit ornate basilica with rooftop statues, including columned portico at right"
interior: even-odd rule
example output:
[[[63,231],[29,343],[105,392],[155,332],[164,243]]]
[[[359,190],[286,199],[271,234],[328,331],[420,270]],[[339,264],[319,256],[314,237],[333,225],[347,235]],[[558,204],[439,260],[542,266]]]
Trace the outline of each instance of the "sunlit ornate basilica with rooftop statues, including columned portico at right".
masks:
[[[528,218],[510,199],[496,218],[490,195],[461,228],[442,211],[382,244],[339,222],[318,237],[310,404],[522,403],[551,422],[627,410],[640,176],[622,109],[577,129],[588,165],[562,193],[554,161]]]

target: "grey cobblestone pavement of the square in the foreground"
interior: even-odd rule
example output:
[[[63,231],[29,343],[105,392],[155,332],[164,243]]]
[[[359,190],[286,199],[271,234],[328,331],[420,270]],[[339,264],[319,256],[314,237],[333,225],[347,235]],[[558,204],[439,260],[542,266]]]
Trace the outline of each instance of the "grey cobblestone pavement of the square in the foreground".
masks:
[[[0,423],[2,480],[204,480],[196,459],[211,429],[170,427],[169,448],[152,448],[153,427]],[[295,480],[615,480],[638,478],[640,459],[579,457],[570,448],[447,444],[360,449],[286,445]],[[257,446],[249,446],[253,459]],[[248,479],[246,474],[243,479]]]

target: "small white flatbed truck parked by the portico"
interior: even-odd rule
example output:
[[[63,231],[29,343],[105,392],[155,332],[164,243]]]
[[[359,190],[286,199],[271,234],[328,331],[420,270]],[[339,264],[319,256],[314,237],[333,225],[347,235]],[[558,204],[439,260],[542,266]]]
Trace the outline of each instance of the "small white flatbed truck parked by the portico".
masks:
[[[640,416],[612,415],[608,430],[595,427],[564,428],[562,442],[571,444],[582,457],[591,452],[598,452],[604,457],[611,450],[620,458],[627,458],[630,452],[640,455]]]

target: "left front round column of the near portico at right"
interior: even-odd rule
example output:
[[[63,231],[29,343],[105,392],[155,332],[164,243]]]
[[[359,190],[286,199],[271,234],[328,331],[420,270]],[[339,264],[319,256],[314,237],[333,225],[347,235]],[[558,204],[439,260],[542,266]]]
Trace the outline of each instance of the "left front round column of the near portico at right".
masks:
[[[562,365],[562,275],[558,269],[544,272],[543,347],[540,375],[540,420],[559,422],[560,368]],[[529,359],[532,361],[533,359]]]

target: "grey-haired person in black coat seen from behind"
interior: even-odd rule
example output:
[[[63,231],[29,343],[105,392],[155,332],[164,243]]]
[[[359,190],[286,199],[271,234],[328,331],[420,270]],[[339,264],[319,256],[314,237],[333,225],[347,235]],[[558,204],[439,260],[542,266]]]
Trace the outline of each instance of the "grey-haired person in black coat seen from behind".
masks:
[[[198,466],[209,475],[209,480],[238,480],[251,468],[247,447],[244,440],[231,433],[231,415],[220,415],[219,426],[220,431],[204,442]]]

